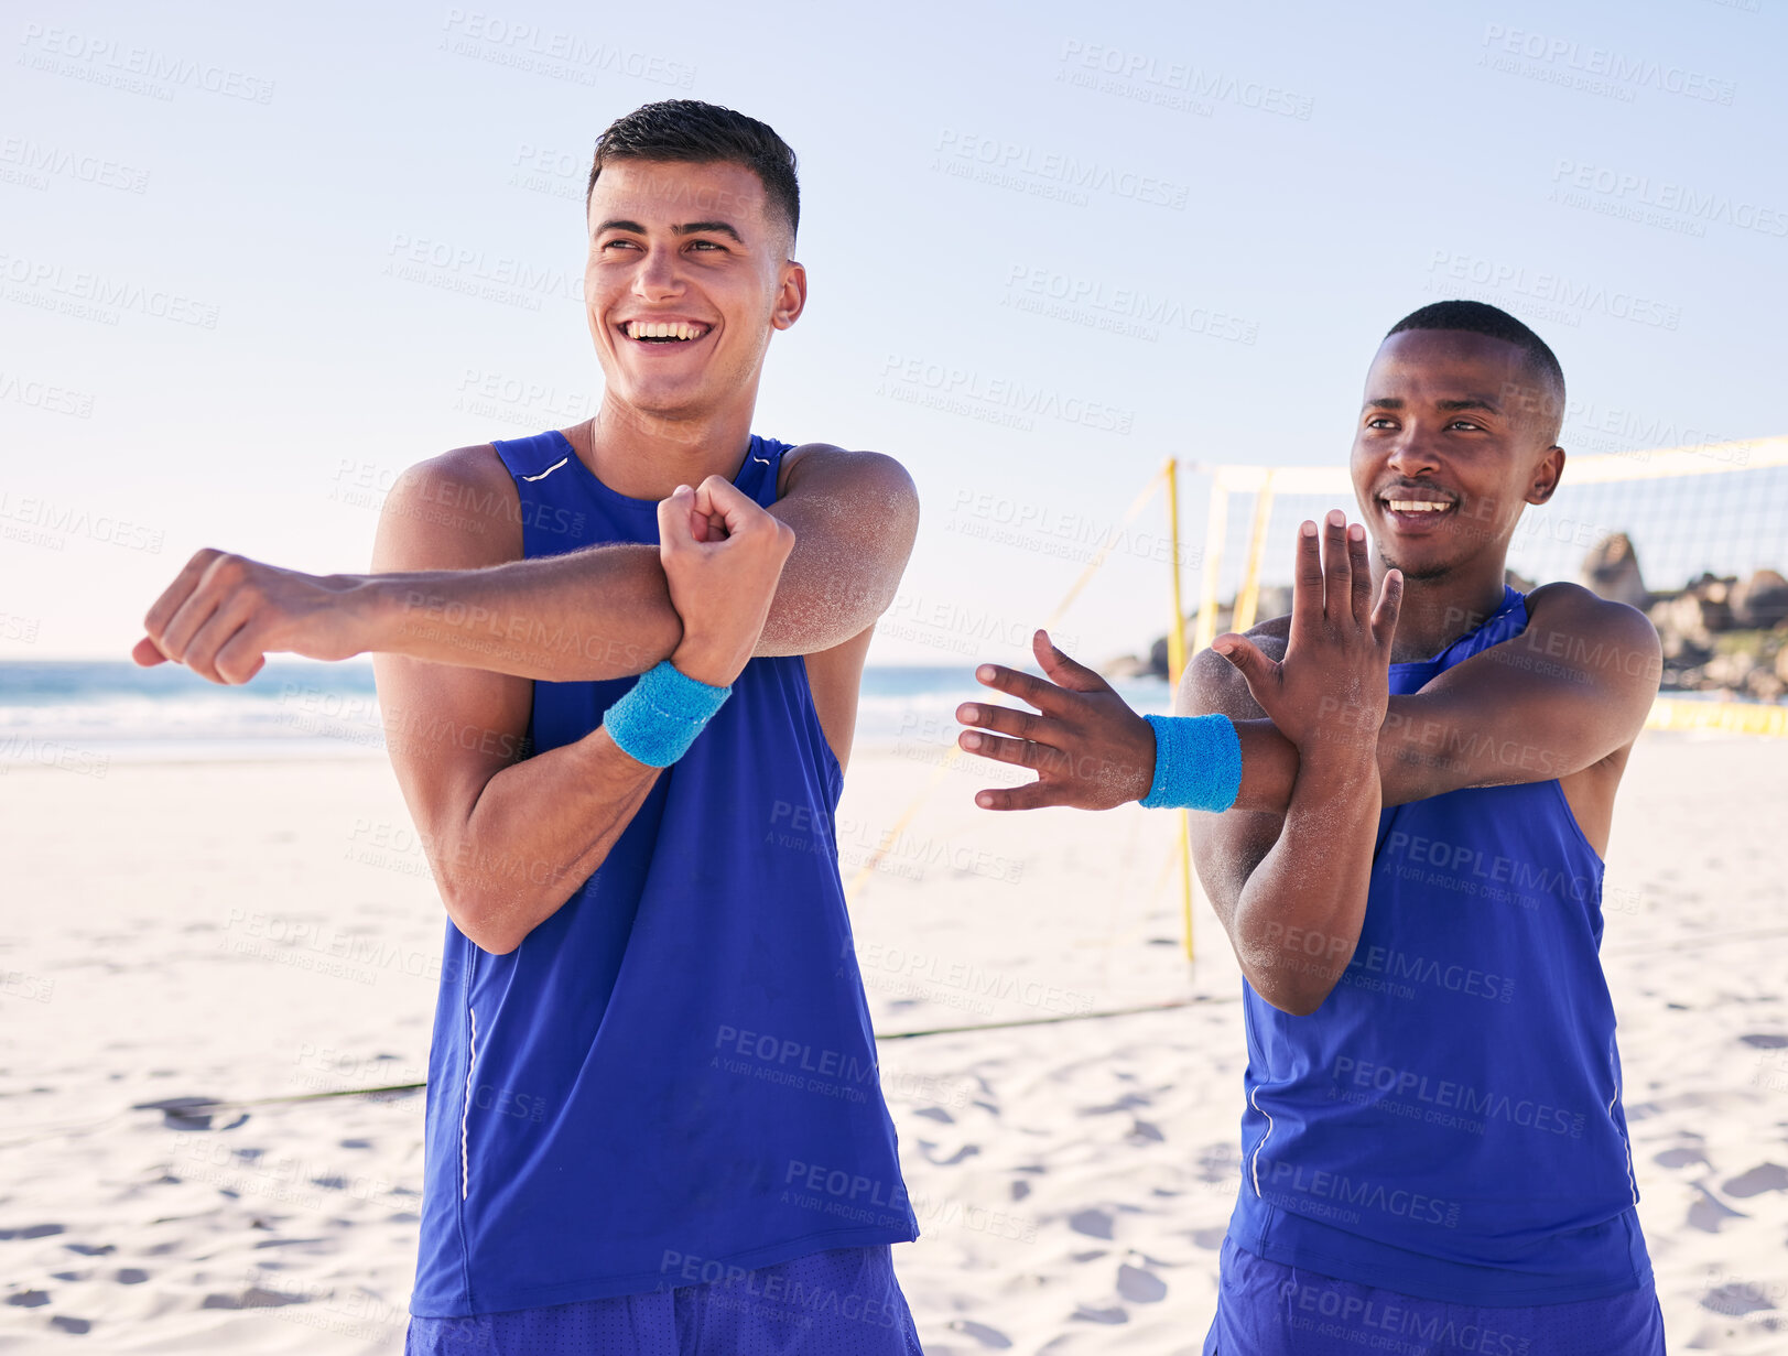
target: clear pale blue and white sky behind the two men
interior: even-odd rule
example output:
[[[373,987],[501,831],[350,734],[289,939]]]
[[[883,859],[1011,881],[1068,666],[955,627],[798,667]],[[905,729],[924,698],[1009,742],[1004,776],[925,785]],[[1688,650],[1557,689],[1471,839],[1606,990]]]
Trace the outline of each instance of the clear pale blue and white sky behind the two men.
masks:
[[[586,415],[590,148],[656,98],[799,154],[756,428],[919,483],[871,662],[1012,658],[1164,456],[1343,460],[1429,301],[1554,345],[1566,447],[1784,433],[1784,11],[7,5],[0,658],[125,658],[200,546],[363,569],[397,470]]]

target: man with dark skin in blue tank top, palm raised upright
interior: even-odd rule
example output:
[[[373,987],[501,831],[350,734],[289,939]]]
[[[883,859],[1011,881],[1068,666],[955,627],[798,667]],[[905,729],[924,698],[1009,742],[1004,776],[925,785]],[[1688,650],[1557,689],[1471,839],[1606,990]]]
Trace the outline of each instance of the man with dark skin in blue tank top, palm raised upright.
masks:
[[[1504,583],[1563,397],[1495,308],[1400,322],[1354,433],[1364,528],[1302,524],[1291,615],[1218,637],[1175,698],[1241,741],[1234,803],[1191,816],[1250,1036],[1207,1356],[1663,1351],[1597,959],[1659,642],[1577,585]],[[964,750],[1039,773],[976,803],[1146,796],[1150,726],[1042,631],[1035,655],[1048,680],[976,676],[1037,714],[957,712]]]

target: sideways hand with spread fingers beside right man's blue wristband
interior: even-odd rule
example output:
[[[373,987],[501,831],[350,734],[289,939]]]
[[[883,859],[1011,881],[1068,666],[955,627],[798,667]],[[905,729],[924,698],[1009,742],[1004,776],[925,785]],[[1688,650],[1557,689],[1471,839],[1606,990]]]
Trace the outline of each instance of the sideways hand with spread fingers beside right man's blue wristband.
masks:
[[[964,751],[1037,773],[1035,782],[1019,787],[980,791],[974,803],[983,810],[1109,810],[1146,796],[1155,776],[1155,732],[1148,721],[1092,669],[1057,649],[1048,631],[1037,631],[1032,651],[1053,682],[1001,664],[980,665],[974,678],[1037,714],[982,701],[957,707],[957,719],[974,726],[957,735]]]

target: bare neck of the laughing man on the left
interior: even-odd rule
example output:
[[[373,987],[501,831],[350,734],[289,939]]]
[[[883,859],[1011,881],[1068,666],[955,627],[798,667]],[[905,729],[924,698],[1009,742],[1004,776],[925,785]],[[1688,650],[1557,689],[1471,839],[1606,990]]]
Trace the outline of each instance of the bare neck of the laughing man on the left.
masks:
[[[751,404],[692,419],[631,410],[603,395],[594,419],[565,429],[578,458],[629,499],[667,499],[678,485],[733,479],[751,445]]]

